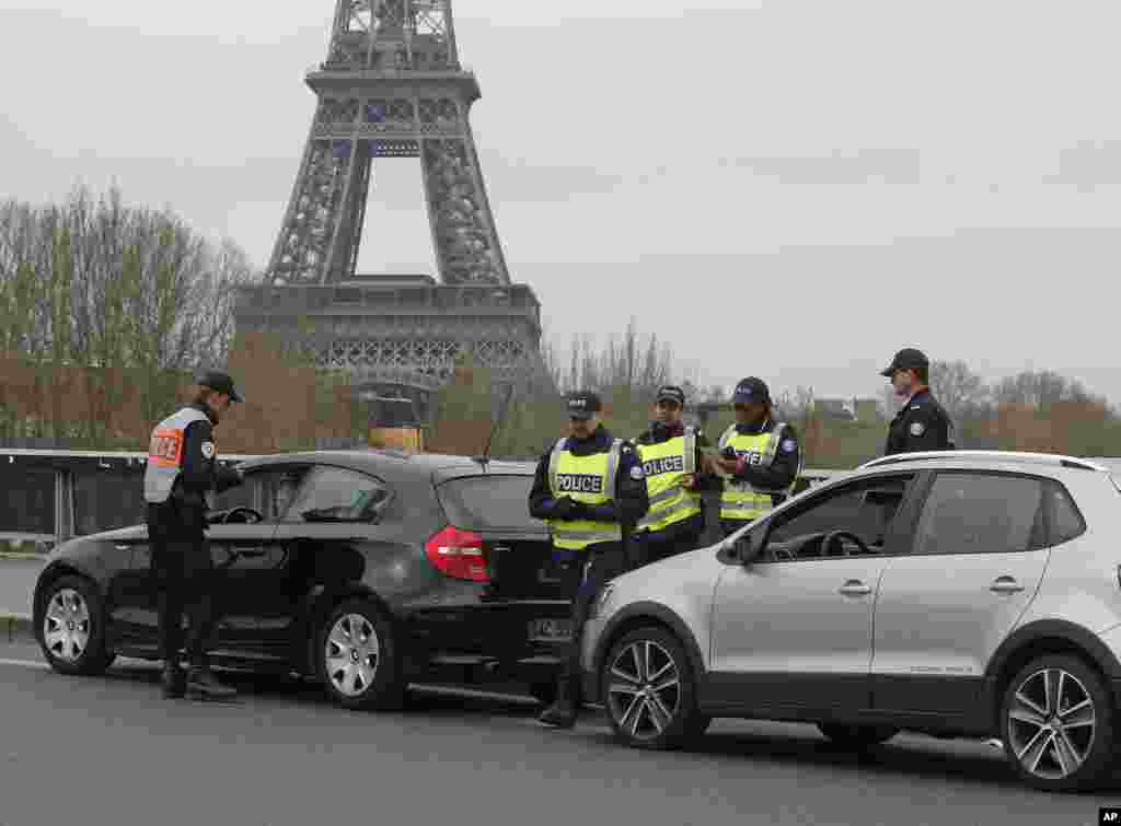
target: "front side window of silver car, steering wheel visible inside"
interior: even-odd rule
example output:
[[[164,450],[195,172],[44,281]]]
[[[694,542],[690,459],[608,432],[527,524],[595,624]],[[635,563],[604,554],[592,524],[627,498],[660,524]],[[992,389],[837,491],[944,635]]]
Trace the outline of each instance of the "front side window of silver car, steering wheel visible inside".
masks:
[[[882,554],[914,474],[876,476],[842,485],[776,517],[765,559],[773,562],[819,557],[823,540],[833,531],[856,536],[869,553]],[[849,553],[863,553],[842,540]]]

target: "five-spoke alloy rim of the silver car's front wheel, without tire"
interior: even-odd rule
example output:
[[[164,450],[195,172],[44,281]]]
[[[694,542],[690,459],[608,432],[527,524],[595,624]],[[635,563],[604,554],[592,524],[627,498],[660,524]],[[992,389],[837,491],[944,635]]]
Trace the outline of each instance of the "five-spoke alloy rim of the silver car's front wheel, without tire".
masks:
[[[611,663],[608,706],[619,727],[636,740],[661,734],[677,715],[680,674],[669,652],[643,640],[627,646]]]

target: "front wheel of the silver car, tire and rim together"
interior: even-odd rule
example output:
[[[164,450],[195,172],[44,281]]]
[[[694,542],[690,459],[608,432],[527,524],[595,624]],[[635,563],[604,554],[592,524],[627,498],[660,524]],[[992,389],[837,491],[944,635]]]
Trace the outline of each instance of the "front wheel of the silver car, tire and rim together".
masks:
[[[685,648],[663,628],[640,628],[615,642],[603,661],[600,685],[615,736],[636,749],[688,745],[712,722],[697,709]]]

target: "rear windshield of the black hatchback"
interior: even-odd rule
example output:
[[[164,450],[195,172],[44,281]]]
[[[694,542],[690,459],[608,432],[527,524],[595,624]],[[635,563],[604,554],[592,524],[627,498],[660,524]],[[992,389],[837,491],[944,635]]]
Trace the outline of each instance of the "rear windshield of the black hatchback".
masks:
[[[532,476],[465,476],[436,489],[447,521],[474,530],[545,530],[529,516]]]

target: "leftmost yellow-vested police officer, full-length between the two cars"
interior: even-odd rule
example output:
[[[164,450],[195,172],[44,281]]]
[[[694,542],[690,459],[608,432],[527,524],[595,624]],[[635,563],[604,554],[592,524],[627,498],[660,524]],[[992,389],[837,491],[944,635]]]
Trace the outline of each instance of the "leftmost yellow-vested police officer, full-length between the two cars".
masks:
[[[582,572],[557,698],[538,718],[562,728],[576,724],[581,705],[580,640],[589,609],[600,588],[627,569],[623,539],[649,507],[638,454],[600,423],[600,397],[573,393],[566,407],[569,435],[541,456],[529,492],[529,514],[548,523],[554,558],[573,560]]]

